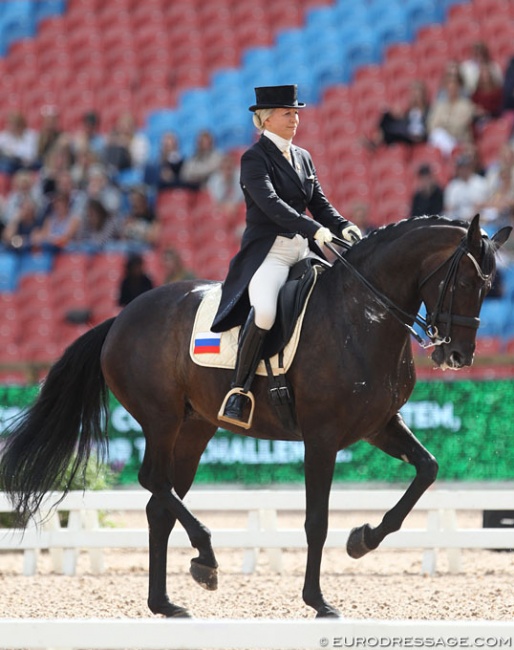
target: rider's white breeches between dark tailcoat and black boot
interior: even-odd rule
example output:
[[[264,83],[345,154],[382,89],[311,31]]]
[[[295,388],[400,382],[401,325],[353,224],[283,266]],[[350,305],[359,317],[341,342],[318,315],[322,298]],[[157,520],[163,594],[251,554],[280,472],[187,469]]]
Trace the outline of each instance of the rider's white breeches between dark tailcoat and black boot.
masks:
[[[277,236],[264,261],[248,285],[250,305],[255,309],[255,324],[270,330],[277,315],[278,293],[285,284],[289,269],[306,257],[318,256],[309,248],[305,237]]]

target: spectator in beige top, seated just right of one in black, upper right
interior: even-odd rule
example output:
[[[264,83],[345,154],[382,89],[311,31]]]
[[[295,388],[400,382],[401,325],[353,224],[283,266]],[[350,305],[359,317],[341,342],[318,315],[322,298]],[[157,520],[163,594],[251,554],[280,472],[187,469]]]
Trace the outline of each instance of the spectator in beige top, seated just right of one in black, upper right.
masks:
[[[428,140],[445,156],[466,142],[473,142],[473,102],[462,95],[462,77],[458,72],[447,70],[443,77],[444,93],[432,104],[427,124]]]

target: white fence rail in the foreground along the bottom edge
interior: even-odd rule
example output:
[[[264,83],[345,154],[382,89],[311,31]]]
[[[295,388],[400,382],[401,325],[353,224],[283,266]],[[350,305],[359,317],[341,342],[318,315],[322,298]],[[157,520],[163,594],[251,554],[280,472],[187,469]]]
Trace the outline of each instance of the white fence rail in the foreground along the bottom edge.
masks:
[[[3,650],[489,649],[513,638],[514,623],[499,621],[0,620]]]

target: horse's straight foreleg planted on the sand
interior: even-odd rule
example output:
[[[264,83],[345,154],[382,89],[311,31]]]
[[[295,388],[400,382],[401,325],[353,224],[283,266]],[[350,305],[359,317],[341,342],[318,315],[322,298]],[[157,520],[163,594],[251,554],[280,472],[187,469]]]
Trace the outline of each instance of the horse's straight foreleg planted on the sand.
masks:
[[[305,533],[307,567],[303,600],[316,610],[317,617],[337,618],[340,612],[327,603],[321,592],[320,571],[323,547],[328,531],[328,503],[334,474],[336,452],[306,446],[305,449]]]

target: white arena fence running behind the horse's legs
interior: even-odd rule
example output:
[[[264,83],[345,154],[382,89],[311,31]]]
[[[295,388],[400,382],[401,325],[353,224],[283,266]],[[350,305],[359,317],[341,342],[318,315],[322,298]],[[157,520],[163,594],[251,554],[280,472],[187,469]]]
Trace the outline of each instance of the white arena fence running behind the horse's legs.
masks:
[[[389,510],[404,494],[401,490],[334,489],[330,497],[330,511],[370,511],[380,515]],[[49,494],[47,508],[59,495]],[[78,553],[87,550],[91,570],[101,573],[104,566],[103,550],[109,548],[146,549],[146,526],[134,528],[104,528],[99,523],[99,512],[144,511],[150,494],[145,490],[106,490],[98,492],[70,492],[48,517],[41,512],[43,524],[31,524],[25,531],[0,529],[0,551],[23,551],[23,573],[37,571],[38,553],[50,552],[53,568],[65,575],[74,575]],[[306,548],[303,528],[280,529],[279,512],[304,512],[305,495],[302,490],[201,490],[194,489],[185,503],[193,512],[245,512],[246,528],[213,529],[215,549],[244,549],[242,571],[252,573],[259,551],[265,549],[272,570],[280,572],[281,549]],[[514,496],[510,490],[493,489],[431,489],[417,503],[415,510],[426,513],[426,528],[404,529],[386,537],[382,547],[394,549],[421,549],[421,572],[433,574],[437,554],[448,555],[448,569],[461,569],[460,550],[514,548],[514,528],[458,528],[458,511],[514,510]],[[10,512],[11,505],[0,493],[0,512]],[[68,524],[61,527],[58,511],[69,512]],[[364,521],[358,522],[365,523]],[[326,547],[344,549],[349,530],[329,530]],[[170,536],[171,548],[190,548],[185,531],[177,525]],[[189,646],[188,646],[189,647]]]

